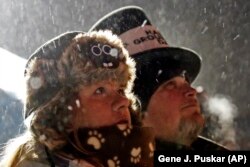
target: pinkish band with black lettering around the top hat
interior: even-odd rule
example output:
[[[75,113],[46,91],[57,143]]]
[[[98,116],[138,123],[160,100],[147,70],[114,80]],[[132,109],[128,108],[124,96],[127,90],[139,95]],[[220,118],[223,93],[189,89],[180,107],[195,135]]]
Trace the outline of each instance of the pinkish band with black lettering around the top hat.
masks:
[[[130,55],[151,49],[167,48],[168,44],[160,32],[151,25],[142,25],[120,35]]]

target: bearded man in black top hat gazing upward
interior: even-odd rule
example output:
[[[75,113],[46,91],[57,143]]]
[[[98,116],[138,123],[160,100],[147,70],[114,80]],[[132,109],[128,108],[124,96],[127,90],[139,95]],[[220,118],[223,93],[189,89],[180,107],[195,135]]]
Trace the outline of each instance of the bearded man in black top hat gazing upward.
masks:
[[[144,124],[155,129],[158,150],[224,149],[201,137],[196,140],[204,125],[196,90],[190,86],[201,67],[197,53],[168,46],[136,6],[111,12],[90,31],[99,29],[118,34],[136,61],[134,92],[145,111]]]

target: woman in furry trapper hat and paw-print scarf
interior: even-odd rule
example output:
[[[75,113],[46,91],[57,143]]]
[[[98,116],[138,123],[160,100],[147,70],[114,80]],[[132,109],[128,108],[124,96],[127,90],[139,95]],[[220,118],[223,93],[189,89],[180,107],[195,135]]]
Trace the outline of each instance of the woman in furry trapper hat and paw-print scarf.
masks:
[[[109,31],[70,32],[44,44],[25,69],[26,132],[1,165],[152,166],[154,138],[130,92],[134,62]]]

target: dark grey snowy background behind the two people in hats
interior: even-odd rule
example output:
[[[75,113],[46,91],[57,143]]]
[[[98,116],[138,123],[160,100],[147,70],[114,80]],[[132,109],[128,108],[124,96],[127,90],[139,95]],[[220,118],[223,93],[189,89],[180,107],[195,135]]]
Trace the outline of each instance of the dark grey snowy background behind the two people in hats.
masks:
[[[0,4],[0,47],[23,58],[60,33],[88,31],[114,9],[141,6],[170,45],[201,55],[202,69],[193,86],[233,104],[237,112],[230,126],[233,137],[240,149],[250,150],[250,1],[0,0]],[[22,103],[0,89],[0,143],[17,135],[21,124]]]

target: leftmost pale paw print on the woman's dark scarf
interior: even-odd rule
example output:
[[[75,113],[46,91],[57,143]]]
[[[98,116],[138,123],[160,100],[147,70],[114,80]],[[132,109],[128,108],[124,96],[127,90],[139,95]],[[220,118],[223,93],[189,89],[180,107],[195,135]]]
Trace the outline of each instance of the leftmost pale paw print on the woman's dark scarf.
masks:
[[[98,131],[89,131],[89,138],[87,140],[88,145],[92,145],[94,149],[99,150],[102,147],[102,143],[105,142],[105,139],[102,137],[101,133]]]

